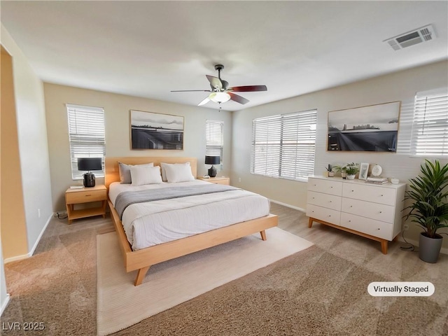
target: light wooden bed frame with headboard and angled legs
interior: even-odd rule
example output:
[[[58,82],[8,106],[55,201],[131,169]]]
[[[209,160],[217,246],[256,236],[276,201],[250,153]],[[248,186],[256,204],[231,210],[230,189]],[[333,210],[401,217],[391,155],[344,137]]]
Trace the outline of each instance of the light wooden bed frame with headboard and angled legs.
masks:
[[[160,162],[166,163],[184,163],[190,162],[191,172],[193,176],[197,176],[197,160],[196,158],[178,158],[178,157],[115,157],[105,158],[105,184],[109,191],[109,185],[112,182],[120,181],[120,172],[118,170],[118,162],[123,162],[127,165],[142,165],[144,163],[153,162],[154,165],[160,165]],[[138,269],[137,277],[134,281],[134,286],[139,286],[144,280],[146,272],[148,272],[151,265],[158,262],[174,259],[182,255],[193,253],[196,251],[226,243],[253,233],[260,232],[261,239],[266,240],[265,230],[273,228],[278,224],[276,215],[269,214],[268,216],[257,218],[252,221],[241,222],[219,228],[208,232],[201,233],[169,241],[164,244],[142,248],[138,251],[132,251],[129,241],[125,234],[125,230],[120,220],[120,216],[113,207],[111,200],[109,200],[109,207],[111,209],[111,216],[118,234],[120,247],[123,251],[126,272],[132,272]]]

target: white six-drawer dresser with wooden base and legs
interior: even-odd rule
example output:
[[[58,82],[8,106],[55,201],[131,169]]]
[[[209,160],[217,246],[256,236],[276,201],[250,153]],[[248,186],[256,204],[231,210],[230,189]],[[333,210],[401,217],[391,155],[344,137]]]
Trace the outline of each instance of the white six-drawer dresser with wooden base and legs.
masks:
[[[373,185],[361,180],[309,176],[308,226],[329,225],[381,243],[387,254],[388,241],[401,232],[405,183]]]

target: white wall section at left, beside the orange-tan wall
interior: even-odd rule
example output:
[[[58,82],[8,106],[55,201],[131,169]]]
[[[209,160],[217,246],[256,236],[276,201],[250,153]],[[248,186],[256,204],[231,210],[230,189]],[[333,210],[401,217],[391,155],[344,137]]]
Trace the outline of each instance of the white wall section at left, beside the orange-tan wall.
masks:
[[[8,130],[8,132],[17,132],[17,142],[11,145],[18,145],[15,155],[18,155],[20,158],[19,167],[15,167],[15,170],[11,172],[2,170],[2,174],[8,173],[10,175],[6,175],[5,179],[17,180],[16,183],[21,180],[22,183],[21,186],[17,185],[17,193],[22,195],[24,207],[17,216],[20,218],[20,216],[25,215],[26,239],[28,242],[26,257],[34,252],[46,225],[48,225],[52,217],[43,83],[36,76],[34,69],[32,69],[22,50],[20,50],[8,31],[4,29],[3,25],[1,25],[0,36],[1,45],[11,55],[13,62],[12,76],[16,125],[11,124],[11,130]],[[3,90],[1,94],[3,97]],[[5,180],[3,180],[2,176],[2,185],[3,181]],[[15,218],[11,218],[11,220],[15,221]],[[3,258],[6,261],[24,257],[24,255],[14,255],[9,258],[10,255],[6,255],[4,247],[4,244],[9,244],[9,242],[14,244],[15,240],[21,239],[20,237],[21,234],[11,237],[12,240],[8,240],[8,243],[6,238],[2,237]]]

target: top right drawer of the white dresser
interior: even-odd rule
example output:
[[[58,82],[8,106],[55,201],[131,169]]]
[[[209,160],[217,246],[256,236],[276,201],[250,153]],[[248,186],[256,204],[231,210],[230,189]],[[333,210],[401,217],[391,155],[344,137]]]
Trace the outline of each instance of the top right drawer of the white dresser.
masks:
[[[366,184],[344,183],[342,197],[386,205],[395,205],[395,189]]]

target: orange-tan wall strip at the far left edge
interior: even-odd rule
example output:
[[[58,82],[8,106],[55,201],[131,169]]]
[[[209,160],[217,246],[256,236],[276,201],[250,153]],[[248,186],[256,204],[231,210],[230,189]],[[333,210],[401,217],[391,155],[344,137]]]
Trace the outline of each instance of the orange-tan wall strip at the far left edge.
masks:
[[[19,137],[15,116],[13,59],[1,47],[1,239],[4,258],[28,253]]]

